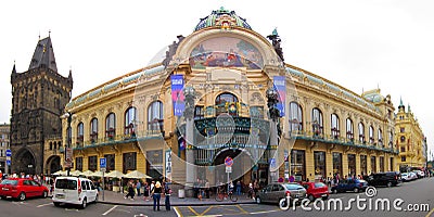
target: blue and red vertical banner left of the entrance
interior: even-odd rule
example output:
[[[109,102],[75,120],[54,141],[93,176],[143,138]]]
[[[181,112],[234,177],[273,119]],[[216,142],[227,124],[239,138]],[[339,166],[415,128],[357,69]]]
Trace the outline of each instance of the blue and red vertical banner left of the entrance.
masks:
[[[183,76],[173,75],[170,76],[171,81],[171,102],[174,105],[174,115],[182,116],[184,110],[184,99],[183,99]]]

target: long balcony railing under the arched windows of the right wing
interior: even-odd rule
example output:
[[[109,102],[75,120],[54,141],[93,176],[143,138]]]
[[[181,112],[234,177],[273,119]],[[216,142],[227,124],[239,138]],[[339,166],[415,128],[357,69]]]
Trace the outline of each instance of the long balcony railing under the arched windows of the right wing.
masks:
[[[294,130],[290,132],[291,139],[301,139],[301,140],[309,140],[309,141],[318,141],[323,143],[334,143],[341,144],[345,146],[354,146],[354,148],[362,148],[369,150],[376,150],[383,152],[390,152],[394,154],[398,154],[398,151],[394,148],[386,148],[384,145],[378,145],[376,142],[367,143],[367,142],[359,142],[355,139],[348,139],[346,137],[340,136],[332,136],[332,135],[324,135],[324,133],[315,133],[312,131],[303,131],[303,130]]]

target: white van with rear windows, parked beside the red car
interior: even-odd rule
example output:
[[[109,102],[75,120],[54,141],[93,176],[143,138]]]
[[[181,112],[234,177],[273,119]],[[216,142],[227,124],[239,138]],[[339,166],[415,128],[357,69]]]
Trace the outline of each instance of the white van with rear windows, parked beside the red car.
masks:
[[[52,197],[54,206],[77,204],[86,208],[87,203],[98,201],[98,189],[93,182],[80,177],[58,177]]]

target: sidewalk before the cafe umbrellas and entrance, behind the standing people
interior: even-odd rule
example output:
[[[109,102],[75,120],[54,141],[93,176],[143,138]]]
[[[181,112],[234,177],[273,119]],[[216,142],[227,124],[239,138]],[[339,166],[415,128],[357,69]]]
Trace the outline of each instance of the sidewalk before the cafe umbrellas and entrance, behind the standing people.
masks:
[[[103,195],[104,194],[104,195]],[[104,197],[104,200],[103,200]],[[162,199],[159,200],[159,205],[164,206],[165,196],[162,194]],[[152,199],[145,201],[143,196],[135,196],[135,200],[131,201],[130,199],[124,199],[123,193],[113,192],[105,190],[104,193],[101,191],[98,203],[103,204],[114,204],[114,205],[126,205],[126,206],[153,206],[154,202]],[[170,205],[171,206],[209,206],[209,205],[228,205],[228,204],[255,204],[253,199],[247,199],[246,195],[238,196],[237,202],[231,201],[222,201],[218,202],[210,196],[209,199],[199,199],[193,197],[186,197],[186,199],[178,199],[177,195],[173,194],[170,196]]]

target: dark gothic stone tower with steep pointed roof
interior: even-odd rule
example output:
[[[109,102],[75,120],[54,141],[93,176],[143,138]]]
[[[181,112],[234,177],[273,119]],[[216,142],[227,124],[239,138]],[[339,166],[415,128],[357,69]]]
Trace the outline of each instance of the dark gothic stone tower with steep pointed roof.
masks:
[[[72,72],[58,73],[50,36],[40,39],[27,72],[11,75],[11,173],[43,173],[43,143],[62,136],[60,116],[71,100]]]

